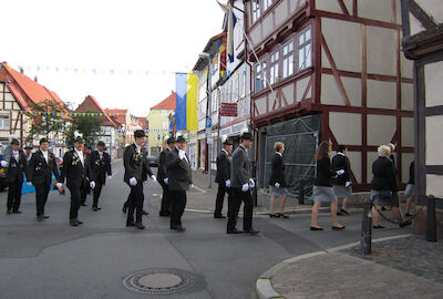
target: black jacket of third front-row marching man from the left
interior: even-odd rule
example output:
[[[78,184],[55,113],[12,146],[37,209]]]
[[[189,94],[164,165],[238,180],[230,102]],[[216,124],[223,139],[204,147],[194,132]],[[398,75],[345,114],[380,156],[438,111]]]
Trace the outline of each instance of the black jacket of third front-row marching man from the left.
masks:
[[[61,183],[66,178],[66,186],[79,187],[82,183],[86,182],[87,157],[84,156],[84,166],[75,150],[69,151],[63,156],[62,175],[60,176]]]

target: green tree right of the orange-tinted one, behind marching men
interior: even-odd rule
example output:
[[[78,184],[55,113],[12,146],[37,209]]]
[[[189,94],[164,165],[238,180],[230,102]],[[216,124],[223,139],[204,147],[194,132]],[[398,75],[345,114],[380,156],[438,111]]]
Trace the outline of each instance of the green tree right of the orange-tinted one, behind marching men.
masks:
[[[91,115],[97,112],[87,111],[86,115],[78,114],[76,116],[72,116],[72,125],[69,126],[65,131],[66,134],[66,143],[74,143],[74,132],[78,131],[83,135],[83,138],[87,145],[95,144],[99,136],[101,126],[103,125],[103,117]],[[90,113],[90,115],[87,115]]]

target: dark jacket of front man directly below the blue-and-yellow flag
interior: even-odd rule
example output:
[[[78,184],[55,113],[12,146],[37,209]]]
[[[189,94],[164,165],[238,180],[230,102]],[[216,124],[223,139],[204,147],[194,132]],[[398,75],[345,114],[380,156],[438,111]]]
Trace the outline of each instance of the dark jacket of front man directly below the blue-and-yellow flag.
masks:
[[[189,158],[186,156],[187,161]],[[166,155],[167,177],[169,178],[169,190],[188,190],[193,184],[193,174],[189,163],[185,158],[178,158],[177,147]]]

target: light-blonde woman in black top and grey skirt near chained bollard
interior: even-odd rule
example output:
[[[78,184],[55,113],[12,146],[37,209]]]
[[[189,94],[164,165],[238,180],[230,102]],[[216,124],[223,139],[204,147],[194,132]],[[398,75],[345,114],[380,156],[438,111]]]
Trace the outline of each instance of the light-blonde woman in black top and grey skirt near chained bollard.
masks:
[[[402,223],[399,210],[399,195],[398,185],[395,178],[395,171],[392,161],[390,159],[391,150],[387,145],[381,145],[378,148],[379,158],[372,163],[372,200],[374,207],[372,207],[372,219],[373,228],[383,228],[380,225],[380,215],[378,210],[381,210],[382,206],[392,207],[392,215]]]

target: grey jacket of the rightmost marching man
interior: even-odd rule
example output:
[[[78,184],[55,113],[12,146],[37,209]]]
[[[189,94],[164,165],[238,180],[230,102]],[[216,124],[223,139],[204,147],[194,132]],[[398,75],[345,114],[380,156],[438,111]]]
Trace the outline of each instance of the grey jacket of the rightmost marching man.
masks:
[[[250,163],[248,153],[239,145],[233,155],[233,168],[230,169],[230,186],[240,189],[250,178]]]

